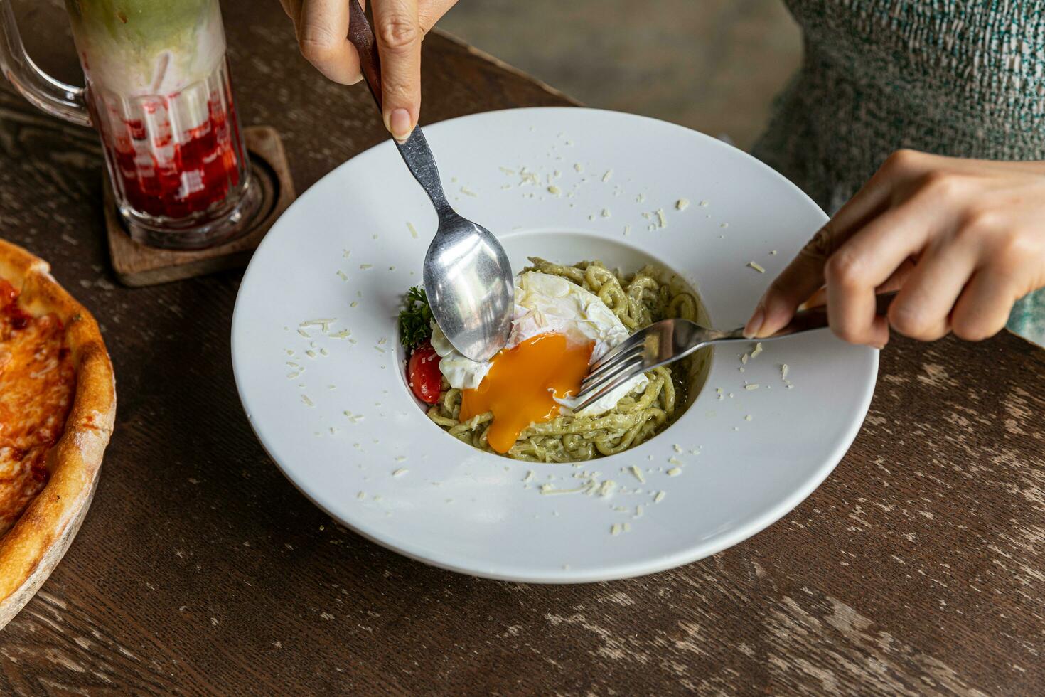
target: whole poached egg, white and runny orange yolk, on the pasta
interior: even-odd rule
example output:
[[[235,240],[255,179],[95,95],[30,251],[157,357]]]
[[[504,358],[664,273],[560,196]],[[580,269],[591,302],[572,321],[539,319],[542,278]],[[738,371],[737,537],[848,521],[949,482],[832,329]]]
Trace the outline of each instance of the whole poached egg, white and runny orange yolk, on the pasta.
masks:
[[[532,423],[573,414],[588,366],[628,338],[620,318],[602,300],[552,274],[525,272],[515,280],[514,319],[507,346],[486,362],[461,355],[433,323],[432,347],[439,369],[461,392],[461,421],[493,413],[490,446],[507,452]],[[645,375],[625,382],[577,416],[598,416],[648,384]]]

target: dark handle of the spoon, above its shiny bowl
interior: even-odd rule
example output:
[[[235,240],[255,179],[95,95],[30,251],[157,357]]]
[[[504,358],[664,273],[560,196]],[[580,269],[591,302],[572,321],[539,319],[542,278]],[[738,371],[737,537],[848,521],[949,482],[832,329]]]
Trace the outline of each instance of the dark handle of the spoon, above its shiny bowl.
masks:
[[[370,88],[370,94],[377,102],[377,110],[381,110],[381,61],[377,54],[377,42],[374,40],[374,31],[370,27],[367,15],[359,6],[358,0],[348,0],[348,40],[355,46],[359,54],[359,70],[363,78]],[[446,194],[443,193],[442,180],[439,178],[439,168],[436,166],[436,159],[432,156],[428,141],[424,139],[421,126],[414,126],[414,131],[405,141],[394,141],[399,155],[402,156],[407,168],[414,176],[417,183],[421,185],[424,192],[432,199],[432,204],[436,207],[436,212],[442,218],[447,213],[452,213]]]

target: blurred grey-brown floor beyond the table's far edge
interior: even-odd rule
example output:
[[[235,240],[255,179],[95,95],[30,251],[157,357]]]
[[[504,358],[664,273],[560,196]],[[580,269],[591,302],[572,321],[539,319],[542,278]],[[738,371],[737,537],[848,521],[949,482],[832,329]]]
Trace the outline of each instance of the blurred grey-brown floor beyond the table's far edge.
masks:
[[[782,0],[460,0],[439,27],[585,106],[745,149],[802,60]]]

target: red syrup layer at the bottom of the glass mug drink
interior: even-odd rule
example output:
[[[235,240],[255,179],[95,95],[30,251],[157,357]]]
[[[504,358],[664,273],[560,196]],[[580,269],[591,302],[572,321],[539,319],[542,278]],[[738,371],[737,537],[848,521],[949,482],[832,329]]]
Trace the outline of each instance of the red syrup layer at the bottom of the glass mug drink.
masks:
[[[229,95],[226,95],[228,98]],[[168,99],[177,99],[171,95]],[[240,142],[235,107],[217,95],[207,102],[207,119],[178,138],[167,118],[168,99],[152,101],[149,118],[121,119],[123,133],[110,145],[127,204],[153,216],[182,218],[225,200],[239,183]],[[162,116],[162,114],[161,114]]]

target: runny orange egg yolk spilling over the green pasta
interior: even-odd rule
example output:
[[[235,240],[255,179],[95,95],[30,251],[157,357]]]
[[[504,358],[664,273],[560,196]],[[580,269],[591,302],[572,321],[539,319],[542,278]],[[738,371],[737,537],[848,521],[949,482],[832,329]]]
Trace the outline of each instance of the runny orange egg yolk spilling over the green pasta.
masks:
[[[559,414],[553,394],[560,399],[577,394],[594,348],[594,342],[545,333],[502,351],[479,387],[461,392],[461,420],[493,412],[487,441],[497,452],[508,452],[531,423]]]

